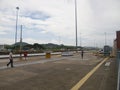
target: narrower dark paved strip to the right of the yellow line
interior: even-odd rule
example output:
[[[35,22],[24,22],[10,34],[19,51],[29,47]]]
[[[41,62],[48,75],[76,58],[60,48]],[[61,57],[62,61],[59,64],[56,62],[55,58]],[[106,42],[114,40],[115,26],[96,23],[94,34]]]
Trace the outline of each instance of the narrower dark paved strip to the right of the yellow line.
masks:
[[[108,62],[110,65],[106,66]],[[116,60],[105,62],[79,90],[117,90]]]

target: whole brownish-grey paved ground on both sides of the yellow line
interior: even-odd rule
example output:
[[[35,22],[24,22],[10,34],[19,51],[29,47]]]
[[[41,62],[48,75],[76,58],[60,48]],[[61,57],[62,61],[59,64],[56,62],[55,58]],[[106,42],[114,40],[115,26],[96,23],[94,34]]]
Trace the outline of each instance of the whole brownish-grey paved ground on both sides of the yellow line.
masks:
[[[70,90],[102,60],[91,53],[86,53],[84,59],[80,54],[30,57],[14,59],[14,68],[7,68],[7,59],[1,60],[0,90]],[[104,63],[79,90],[116,90],[116,60],[107,62],[110,65]]]

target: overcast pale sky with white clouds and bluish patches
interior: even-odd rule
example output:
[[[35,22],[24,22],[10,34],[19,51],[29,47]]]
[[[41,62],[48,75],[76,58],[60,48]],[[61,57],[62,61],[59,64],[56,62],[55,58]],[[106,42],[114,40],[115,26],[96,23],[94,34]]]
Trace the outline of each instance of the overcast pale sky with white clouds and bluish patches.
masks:
[[[23,42],[75,46],[74,0],[0,0],[0,44]],[[112,45],[120,30],[120,0],[77,0],[78,46]],[[106,33],[106,34],[105,34]],[[106,39],[105,39],[106,37]]]

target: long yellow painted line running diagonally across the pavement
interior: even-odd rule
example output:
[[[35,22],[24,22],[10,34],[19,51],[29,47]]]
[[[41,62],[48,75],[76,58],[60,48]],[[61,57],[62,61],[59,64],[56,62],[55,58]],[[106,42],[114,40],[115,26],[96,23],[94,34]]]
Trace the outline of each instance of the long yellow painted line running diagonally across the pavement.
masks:
[[[89,78],[92,74],[109,58],[105,58],[101,61],[96,67],[94,67],[86,76],[84,76],[71,90],[78,90]]]

